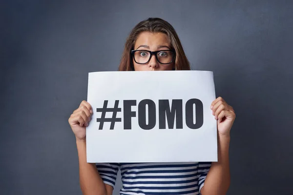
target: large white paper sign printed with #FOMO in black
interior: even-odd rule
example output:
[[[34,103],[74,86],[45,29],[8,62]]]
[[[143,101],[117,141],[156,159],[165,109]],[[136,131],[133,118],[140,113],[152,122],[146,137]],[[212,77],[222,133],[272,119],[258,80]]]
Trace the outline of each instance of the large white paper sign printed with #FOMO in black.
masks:
[[[209,71],[94,72],[87,162],[217,161]]]

